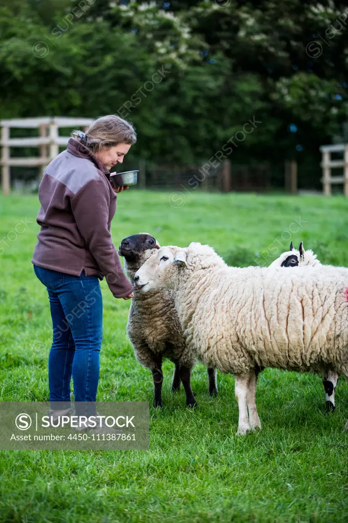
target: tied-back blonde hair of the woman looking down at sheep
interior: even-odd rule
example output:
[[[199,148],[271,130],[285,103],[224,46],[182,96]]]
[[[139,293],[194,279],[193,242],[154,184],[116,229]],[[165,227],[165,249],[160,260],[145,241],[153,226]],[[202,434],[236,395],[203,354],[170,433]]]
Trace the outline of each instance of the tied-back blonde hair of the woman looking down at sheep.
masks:
[[[71,136],[94,152],[101,149],[110,149],[119,143],[134,145],[137,134],[134,127],[127,120],[116,115],[107,115],[97,118],[86,132],[73,131]]]

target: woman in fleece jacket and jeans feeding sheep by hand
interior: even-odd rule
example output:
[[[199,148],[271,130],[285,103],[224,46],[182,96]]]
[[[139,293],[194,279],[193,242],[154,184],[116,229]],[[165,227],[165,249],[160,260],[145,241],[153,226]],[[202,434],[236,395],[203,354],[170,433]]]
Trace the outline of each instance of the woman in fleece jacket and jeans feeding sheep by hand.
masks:
[[[110,234],[116,189],[109,170],[122,163],[136,133],[118,116],[74,131],[66,151],[47,166],[39,187],[41,225],[32,263],[49,293],[53,343],[49,356],[51,415],[70,413],[75,402],[95,402],[102,343],[105,276],[115,298],[133,297]],[[128,188],[128,187],[125,187]],[[76,414],[94,415],[94,403],[77,403]]]

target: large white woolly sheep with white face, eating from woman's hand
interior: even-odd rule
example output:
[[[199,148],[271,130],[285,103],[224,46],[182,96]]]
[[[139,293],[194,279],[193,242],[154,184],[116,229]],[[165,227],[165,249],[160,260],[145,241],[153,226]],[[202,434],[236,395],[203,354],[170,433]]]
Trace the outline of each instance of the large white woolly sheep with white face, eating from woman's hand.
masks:
[[[194,357],[234,374],[237,434],[261,428],[258,368],[330,367],[348,377],[348,269],[248,269],[228,267],[208,245],[191,243],[160,248],[134,276],[144,294],[174,290]]]

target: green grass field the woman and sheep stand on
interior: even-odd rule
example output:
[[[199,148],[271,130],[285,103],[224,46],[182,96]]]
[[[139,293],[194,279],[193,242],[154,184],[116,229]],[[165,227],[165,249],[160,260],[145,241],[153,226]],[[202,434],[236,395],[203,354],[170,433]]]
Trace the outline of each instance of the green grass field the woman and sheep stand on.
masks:
[[[258,263],[262,252],[268,265],[291,239],[303,240],[325,263],[348,266],[343,197],[193,191],[172,207],[169,196],[119,195],[115,244],[146,231],[162,245],[208,243],[231,265]],[[36,196],[0,197],[0,401],[49,399],[49,303],[30,263],[37,211]],[[102,289],[98,400],[151,404],[151,374],[126,337],[129,302],[115,300],[105,281]],[[163,410],[150,406],[149,451],[1,451],[0,521],[348,521],[347,382],[339,379],[336,411],[327,415],[318,376],[266,370],[257,390],[262,431],[237,437],[234,378],[219,374],[220,396],[211,398],[197,365],[198,407],[189,410],[183,390],[171,393],[172,370],[166,362]]]

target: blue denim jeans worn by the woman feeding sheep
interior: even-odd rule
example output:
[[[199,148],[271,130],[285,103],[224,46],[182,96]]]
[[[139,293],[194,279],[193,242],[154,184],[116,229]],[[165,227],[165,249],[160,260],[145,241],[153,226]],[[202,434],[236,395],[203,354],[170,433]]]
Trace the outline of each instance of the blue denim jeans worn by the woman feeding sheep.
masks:
[[[103,336],[103,301],[97,276],[71,276],[34,265],[49,293],[53,342],[49,356],[51,408],[70,407],[73,376],[75,402],[95,402]],[[77,403],[79,415],[95,414],[94,403]],[[80,411],[80,412],[78,412]]]

